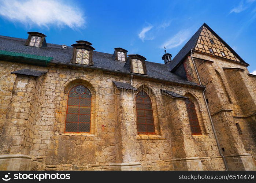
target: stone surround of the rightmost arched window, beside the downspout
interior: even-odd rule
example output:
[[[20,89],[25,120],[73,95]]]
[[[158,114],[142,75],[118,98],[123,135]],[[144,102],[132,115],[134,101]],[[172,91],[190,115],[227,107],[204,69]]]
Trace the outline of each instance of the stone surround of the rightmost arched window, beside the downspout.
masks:
[[[200,101],[198,100],[198,98],[196,96],[194,96],[192,93],[186,93],[184,95],[185,97],[188,97],[189,100],[191,100],[194,105],[195,105],[195,109],[196,109],[196,115],[197,115],[197,119],[198,119],[198,122],[199,122],[199,126],[200,126],[200,130],[201,130],[201,134],[191,134],[192,135],[196,135],[196,136],[202,136],[202,135],[206,135],[206,129],[205,129],[205,123],[204,123],[204,119],[203,119],[203,114],[202,114],[202,109],[200,107]],[[184,101],[185,102],[185,101]],[[186,104],[185,104],[186,105]],[[190,124],[189,124],[189,127],[190,127]]]

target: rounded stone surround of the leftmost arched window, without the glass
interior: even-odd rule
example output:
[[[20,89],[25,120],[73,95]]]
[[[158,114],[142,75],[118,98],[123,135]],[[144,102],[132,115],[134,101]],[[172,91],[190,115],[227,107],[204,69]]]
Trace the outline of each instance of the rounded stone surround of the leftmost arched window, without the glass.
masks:
[[[76,85],[84,85],[87,87],[91,94],[91,126],[90,132],[65,132],[65,123],[66,123],[66,115],[67,115],[67,98],[68,91]],[[60,92],[60,105],[59,110],[56,110],[56,121],[59,125],[57,125],[57,131],[59,131],[60,135],[85,135],[85,136],[95,136],[97,135],[97,111],[99,110],[99,98],[97,96],[96,88],[84,77],[71,78],[63,84],[62,90]]]

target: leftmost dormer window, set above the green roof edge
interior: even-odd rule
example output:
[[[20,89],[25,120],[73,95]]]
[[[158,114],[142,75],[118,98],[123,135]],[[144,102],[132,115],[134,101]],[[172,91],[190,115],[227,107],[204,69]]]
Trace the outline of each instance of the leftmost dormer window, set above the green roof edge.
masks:
[[[35,46],[35,47],[47,47],[45,35],[38,32],[28,32],[29,37],[27,38],[26,45],[27,46]]]

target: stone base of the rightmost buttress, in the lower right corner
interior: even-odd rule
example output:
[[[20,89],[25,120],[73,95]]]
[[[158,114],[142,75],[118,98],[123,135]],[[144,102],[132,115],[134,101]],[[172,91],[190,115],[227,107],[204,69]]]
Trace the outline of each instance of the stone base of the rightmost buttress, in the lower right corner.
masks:
[[[256,170],[256,162],[251,154],[225,156],[229,170]]]

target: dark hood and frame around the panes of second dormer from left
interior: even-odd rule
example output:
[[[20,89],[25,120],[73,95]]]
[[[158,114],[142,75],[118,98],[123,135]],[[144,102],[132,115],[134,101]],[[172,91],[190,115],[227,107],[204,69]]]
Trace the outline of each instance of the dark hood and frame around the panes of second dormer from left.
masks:
[[[87,42],[87,41],[86,41]],[[77,44],[73,44],[71,45],[73,46],[73,57],[71,59],[71,63],[73,64],[77,64],[76,63],[76,58],[77,58],[77,50],[78,49],[85,49],[89,51],[89,66],[93,66],[93,50],[95,50],[91,45],[89,44],[84,44],[84,43],[77,43]],[[83,64],[82,64],[83,65]],[[85,64],[84,64],[85,65]]]

